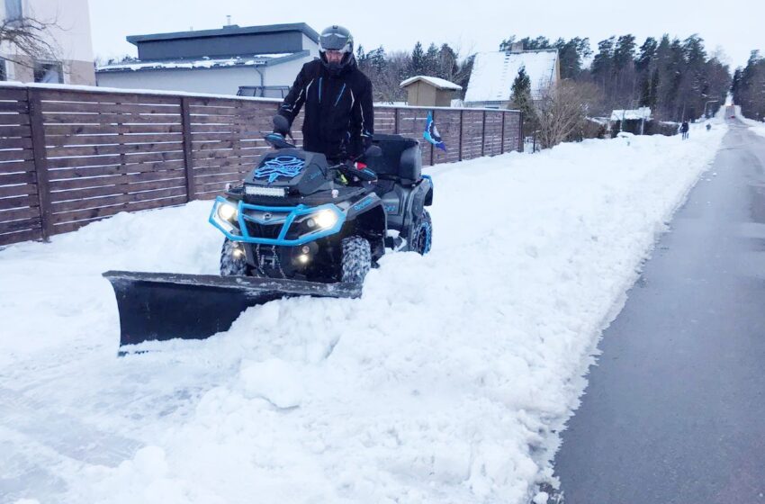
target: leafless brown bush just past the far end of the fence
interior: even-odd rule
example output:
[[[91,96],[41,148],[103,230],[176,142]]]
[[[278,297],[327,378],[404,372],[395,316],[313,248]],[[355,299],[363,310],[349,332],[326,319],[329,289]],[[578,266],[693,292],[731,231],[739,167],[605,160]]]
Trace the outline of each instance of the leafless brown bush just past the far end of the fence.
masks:
[[[542,148],[576,139],[586,125],[588,112],[598,100],[595,85],[572,80],[563,80],[542,90],[535,101]]]

